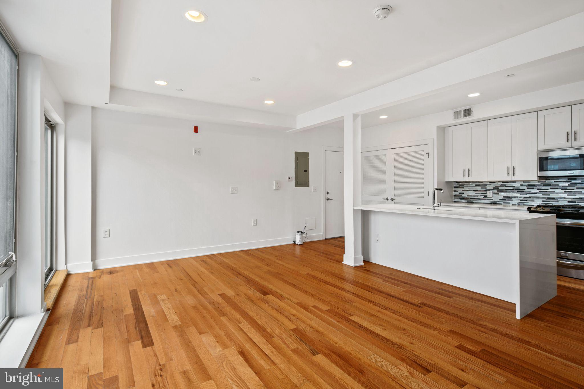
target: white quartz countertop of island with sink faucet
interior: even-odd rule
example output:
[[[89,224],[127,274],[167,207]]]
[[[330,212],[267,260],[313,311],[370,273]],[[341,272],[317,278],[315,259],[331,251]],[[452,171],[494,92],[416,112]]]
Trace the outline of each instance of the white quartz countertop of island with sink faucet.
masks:
[[[440,209],[442,208],[442,209]],[[482,210],[482,209],[460,209],[457,207],[448,207],[443,205],[432,211],[432,207],[425,205],[402,205],[402,204],[376,204],[376,205],[361,205],[354,209],[363,209],[365,211],[378,212],[393,212],[393,213],[409,213],[411,215],[425,215],[435,216],[439,218],[456,218],[456,219],[475,219],[475,220],[489,220],[492,222],[518,223],[522,220],[530,220],[537,218],[548,218],[555,215],[541,215],[538,213],[527,212],[511,212],[511,211],[497,211],[496,209]],[[555,223],[555,222],[554,222]]]

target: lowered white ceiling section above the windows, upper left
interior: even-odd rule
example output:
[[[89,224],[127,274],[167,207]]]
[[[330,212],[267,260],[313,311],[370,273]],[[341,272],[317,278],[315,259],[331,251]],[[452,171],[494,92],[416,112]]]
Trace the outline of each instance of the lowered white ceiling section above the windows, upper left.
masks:
[[[0,0],[21,52],[38,54],[68,103],[102,106],[110,82],[109,0]]]

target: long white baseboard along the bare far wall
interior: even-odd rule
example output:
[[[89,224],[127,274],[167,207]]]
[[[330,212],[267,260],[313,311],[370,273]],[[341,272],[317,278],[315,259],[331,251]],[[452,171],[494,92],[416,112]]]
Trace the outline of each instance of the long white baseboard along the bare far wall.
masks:
[[[312,235],[308,235],[307,241],[321,240],[321,239],[322,239],[322,234],[312,234]],[[252,241],[252,242],[223,244],[220,246],[187,248],[186,250],[165,251],[164,253],[128,255],[128,257],[117,257],[117,258],[106,258],[104,260],[95,260],[95,261],[93,261],[93,268],[107,269],[107,268],[114,268],[114,267],[119,267],[119,266],[147,264],[148,262],[178,260],[180,258],[199,257],[200,255],[229,253],[230,251],[250,250],[252,248],[281,246],[282,244],[291,244],[291,243],[293,243],[293,241],[294,241],[294,237],[286,237],[286,238],[277,238],[277,239],[256,240],[256,241]],[[91,262],[90,262],[90,264],[91,264]],[[74,265],[77,266],[77,264],[74,264]],[[69,269],[69,265],[67,265],[67,269]],[[86,270],[86,271],[91,271],[91,270]],[[69,273],[71,273],[71,272],[72,271],[69,271]],[[79,271],[79,272],[81,272],[81,271]]]

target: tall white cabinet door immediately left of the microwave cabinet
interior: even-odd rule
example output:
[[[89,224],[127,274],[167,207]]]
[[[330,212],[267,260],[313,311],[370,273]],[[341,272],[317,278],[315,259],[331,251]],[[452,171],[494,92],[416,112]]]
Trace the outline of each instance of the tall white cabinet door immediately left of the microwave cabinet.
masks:
[[[511,177],[537,180],[537,112],[511,117]]]

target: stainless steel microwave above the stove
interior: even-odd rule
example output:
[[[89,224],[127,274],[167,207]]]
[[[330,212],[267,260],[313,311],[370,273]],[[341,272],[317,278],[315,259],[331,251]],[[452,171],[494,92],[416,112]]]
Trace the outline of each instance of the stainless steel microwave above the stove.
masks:
[[[584,176],[584,148],[537,152],[540,177]]]

